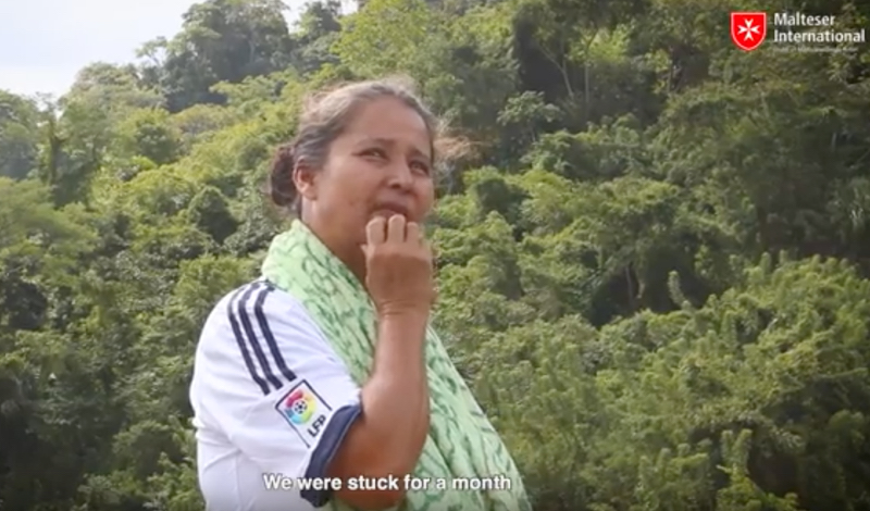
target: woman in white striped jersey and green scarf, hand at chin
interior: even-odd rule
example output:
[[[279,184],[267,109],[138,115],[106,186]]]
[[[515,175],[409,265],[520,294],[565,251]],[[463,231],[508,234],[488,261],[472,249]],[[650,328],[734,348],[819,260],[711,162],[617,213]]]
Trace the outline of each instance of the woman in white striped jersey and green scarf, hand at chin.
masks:
[[[410,89],[364,82],[314,97],[278,150],[272,198],[297,220],[197,348],[209,510],[530,509],[428,326],[437,132]]]

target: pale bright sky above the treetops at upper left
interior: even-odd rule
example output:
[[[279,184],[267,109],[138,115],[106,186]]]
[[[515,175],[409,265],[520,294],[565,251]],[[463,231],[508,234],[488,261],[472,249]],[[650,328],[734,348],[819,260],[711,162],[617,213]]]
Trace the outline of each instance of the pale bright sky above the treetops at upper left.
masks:
[[[92,62],[135,60],[141,43],[172,37],[192,0],[0,0],[0,89],[63,95]],[[306,0],[285,0],[293,22]]]

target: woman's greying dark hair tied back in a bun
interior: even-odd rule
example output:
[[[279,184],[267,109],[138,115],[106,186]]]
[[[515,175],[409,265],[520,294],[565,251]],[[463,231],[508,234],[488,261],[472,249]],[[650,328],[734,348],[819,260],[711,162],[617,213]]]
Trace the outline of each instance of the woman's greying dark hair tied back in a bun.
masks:
[[[281,146],[272,161],[268,187],[272,202],[298,216],[301,200],[293,180],[296,164],[304,161],[314,171],[323,169],[332,142],[344,133],[359,108],[382,98],[397,99],[420,114],[430,134],[432,163],[436,164],[444,155],[438,150],[445,147],[444,125],[415,95],[409,79],[393,77],[341,85],[318,91],[304,101],[296,137]]]

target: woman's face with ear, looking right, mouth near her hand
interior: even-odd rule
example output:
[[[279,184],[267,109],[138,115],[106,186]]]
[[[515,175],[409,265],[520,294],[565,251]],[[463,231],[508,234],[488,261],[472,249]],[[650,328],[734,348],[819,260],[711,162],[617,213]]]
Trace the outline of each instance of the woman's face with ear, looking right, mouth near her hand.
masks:
[[[422,222],[435,200],[430,134],[423,119],[394,98],[361,105],[336,138],[320,172],[297,173],[306,222],[340,245],[365,241],[377,215]],[[344,242],[341,242],[344,241]]]

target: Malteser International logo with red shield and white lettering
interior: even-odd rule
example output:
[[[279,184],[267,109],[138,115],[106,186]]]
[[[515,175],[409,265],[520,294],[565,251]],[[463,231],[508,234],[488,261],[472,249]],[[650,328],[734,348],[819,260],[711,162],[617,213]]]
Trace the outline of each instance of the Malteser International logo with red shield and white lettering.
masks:
[[[771,20],[772,18],[772,20]],[[768,29],[768,22],[772,26]],[[867,27],[844,16],[776,12],[732,12],[731,40],[744,51],[758,49],[767,40],[775,51],[856,51],[867,42]]]

